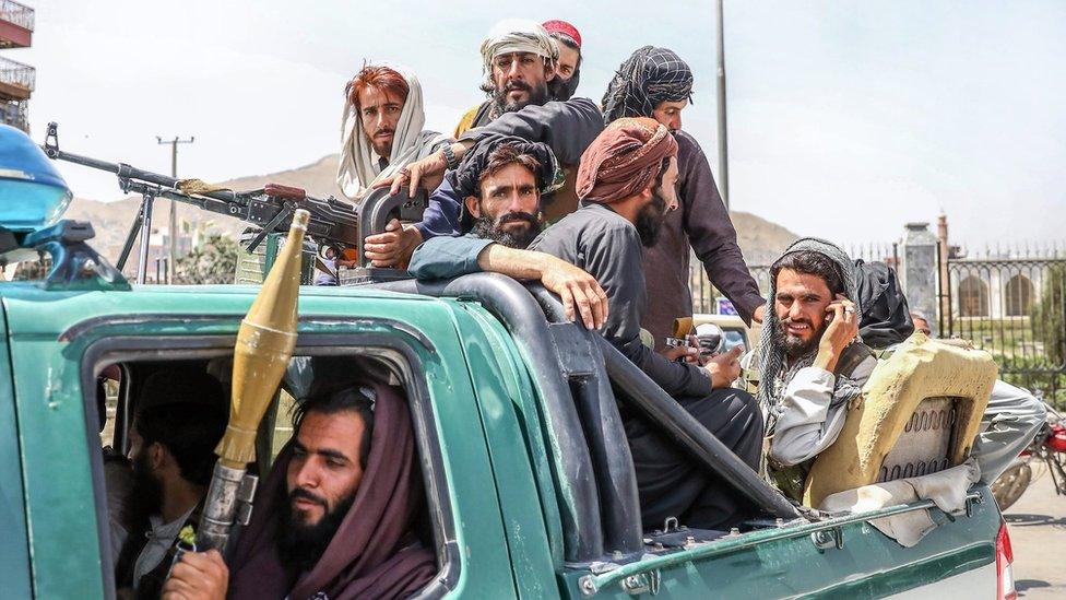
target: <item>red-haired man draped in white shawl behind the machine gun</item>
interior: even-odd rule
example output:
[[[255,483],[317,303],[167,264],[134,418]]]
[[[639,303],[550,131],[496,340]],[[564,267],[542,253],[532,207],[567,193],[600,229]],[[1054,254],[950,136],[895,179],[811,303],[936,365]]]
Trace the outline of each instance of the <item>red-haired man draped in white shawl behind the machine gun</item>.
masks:
[[[413,73],[391,67],[366,64],[344,89],[341,119],[341,158],[336,185],[355,203],[376,181],[386,180],[408,164],[425,158],[451,139],[424,130],[422,84]],[[410,256],[422,242],[414,225],[393,220],[386,232],[368,236],[366,255],[390,264]]]

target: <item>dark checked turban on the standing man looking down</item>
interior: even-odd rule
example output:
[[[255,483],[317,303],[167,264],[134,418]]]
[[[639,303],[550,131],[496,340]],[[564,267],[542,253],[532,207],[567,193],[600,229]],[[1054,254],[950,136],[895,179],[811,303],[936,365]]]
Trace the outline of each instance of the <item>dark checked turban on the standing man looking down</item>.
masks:
[[[691,101],[692,71],[673,50],[644,46],[621,63],[603,96],[603,122],[650,117],[663,102]]]

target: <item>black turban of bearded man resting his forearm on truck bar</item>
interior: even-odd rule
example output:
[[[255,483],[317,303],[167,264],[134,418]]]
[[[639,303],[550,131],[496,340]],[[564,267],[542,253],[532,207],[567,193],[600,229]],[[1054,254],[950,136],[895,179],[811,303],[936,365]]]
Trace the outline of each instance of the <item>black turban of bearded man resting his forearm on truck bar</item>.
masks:
[[[463,161],[459,166],[449,170],[446,175],[448,183],[460,199],[459,231],[466,233],[474,226],[474,219],[466,211],[465,198],[477,196],[482,172],[488,166],[489,156],[493,151],[502,144],[513,145],[521,154],[529,154],[536,158],[540,164],[537,172],[533,174],[536,179],[536,187],[541,190],[541,197],[552,193],[562,187],[562,178],[566,176],[559,168],[559,163],[555,158],[552,148],[541,142],[530,142],[522,138],[511,136],[491,134],[477,142],[463,155]]]

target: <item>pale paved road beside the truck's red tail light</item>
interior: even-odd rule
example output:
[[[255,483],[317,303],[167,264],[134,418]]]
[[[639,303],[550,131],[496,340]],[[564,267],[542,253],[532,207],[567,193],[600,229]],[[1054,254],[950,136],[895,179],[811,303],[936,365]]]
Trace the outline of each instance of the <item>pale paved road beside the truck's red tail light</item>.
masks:
[[[1015,551],[1020,598],[1066,598],[1066,496],[1056,496],[1047,468],[1033,464],[1034,481],[1005,514]]]

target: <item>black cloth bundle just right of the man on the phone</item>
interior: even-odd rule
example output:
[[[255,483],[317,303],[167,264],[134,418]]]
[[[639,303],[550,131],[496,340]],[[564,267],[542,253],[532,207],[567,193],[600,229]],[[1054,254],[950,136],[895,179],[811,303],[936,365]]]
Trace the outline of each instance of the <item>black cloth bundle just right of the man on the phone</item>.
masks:
[[[884,262],[864,262],[860,258],[855,260],[855,277],[863,307],[858,321],[863,342],[880,350],[909,338],[914,332],[914,321],[896,270]]]

